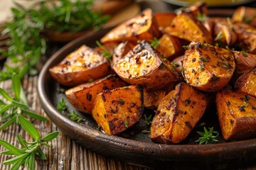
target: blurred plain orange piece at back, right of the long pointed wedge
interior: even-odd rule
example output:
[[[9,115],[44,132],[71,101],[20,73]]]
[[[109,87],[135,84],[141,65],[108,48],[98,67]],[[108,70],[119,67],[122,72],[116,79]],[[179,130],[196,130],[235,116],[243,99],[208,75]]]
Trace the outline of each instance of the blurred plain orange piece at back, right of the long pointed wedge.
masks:
[[[170,26],[171,21],[176,16],[176,13],[154,13],[153,17],[156,21],[159,30],[164,30],[167,26]]]

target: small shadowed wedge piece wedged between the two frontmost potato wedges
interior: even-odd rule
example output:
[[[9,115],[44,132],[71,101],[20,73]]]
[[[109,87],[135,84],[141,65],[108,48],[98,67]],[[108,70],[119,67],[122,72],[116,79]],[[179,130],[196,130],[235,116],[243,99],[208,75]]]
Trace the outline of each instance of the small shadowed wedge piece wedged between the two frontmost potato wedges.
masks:
[[[159,103],[164,96],[166,96],[166,90],[151,90],[144,89],[144,107],[149,109],[155,109],[159,106]]]

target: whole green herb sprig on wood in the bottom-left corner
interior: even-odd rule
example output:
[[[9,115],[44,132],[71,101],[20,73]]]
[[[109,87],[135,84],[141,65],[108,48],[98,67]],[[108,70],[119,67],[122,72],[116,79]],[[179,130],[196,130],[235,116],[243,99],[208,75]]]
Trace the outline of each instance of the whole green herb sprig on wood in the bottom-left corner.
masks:
[[[14,155],[15,157],[6,160],[3,162],[4,165],[13,164],[11,169],[19,169],[20,166],[25,165],[28,169],[35,169],[36,163],[36,155],[38,155],[41,159],[45,160],[46,155],[43,153],[43,149],[41,148],[43,145],[50,147],[47,142],[54,140],[59,132],[50,132],[48,135],[41,137],[38,130],[22,115],[18,115],[18,122],[21,124],[24,130],[28,132],[28,134],[33,137],[33,142],[28,142],[20,134],[17,135],[18,142],[21,145],[21,149],[15,147],[14,145],[9,144],[5,140],[0,139],[0,145],[5,147],[7,150],[1,152],[1,154],[6,155]]]

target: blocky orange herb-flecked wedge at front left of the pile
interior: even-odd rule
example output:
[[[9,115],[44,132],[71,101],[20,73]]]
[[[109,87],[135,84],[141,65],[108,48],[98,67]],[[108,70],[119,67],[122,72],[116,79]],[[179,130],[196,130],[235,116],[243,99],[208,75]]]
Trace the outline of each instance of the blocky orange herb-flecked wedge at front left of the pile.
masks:
[[[127,86],[97,95],[92,118],[107,134],[117,135],[142,117],[144,109],[142,86]]]

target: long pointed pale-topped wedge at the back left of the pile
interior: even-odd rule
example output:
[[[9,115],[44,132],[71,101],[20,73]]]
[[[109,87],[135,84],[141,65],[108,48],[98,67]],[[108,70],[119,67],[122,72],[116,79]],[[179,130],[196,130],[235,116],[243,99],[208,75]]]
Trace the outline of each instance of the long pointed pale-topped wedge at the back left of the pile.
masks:
[[[137,42],[137,40],[151,40],[159,36],[160,31],[153,19],[152,11],[146,8],[138,16],[110,30],[100,41],[102,43],[122,40]]]

